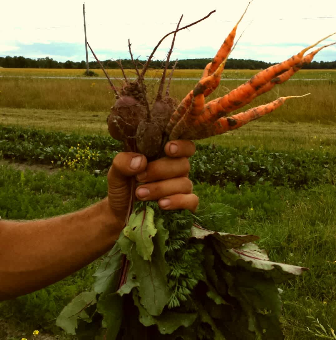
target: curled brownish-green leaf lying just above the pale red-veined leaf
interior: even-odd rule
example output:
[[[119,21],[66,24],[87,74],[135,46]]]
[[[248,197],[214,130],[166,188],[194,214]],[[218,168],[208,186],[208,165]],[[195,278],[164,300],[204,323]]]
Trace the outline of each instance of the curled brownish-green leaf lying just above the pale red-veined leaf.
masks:
[[[255,235],[234,235],[221,232],[213,232],[200,226],[192,226],[191,234],[193,237],[204,240],[207,236],[212,236],[227,249],[239,248],[245,243],[253,242],[259,239]]]

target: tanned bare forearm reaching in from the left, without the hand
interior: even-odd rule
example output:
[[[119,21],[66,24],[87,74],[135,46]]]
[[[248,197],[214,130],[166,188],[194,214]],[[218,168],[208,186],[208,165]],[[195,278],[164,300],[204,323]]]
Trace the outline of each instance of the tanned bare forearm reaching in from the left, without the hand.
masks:
[[[46,287],[106,253],[118,238],[107,199],[34,221],[0,220],[0,301]]]

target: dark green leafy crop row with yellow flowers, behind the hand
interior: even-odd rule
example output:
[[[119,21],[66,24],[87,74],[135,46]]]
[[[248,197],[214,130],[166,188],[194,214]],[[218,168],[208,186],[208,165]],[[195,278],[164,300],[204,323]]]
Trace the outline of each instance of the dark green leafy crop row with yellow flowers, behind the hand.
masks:
[[[79,159],[88,170],[108,169],[122,145],[110,137],[80,136],[16,127],[1,127],[0,156],[7,159],[70,167]],[[268,152],[263,149],[197,145],[190,159],[190,178],[224,186],[248,182],[301,187],[336,182],[336,155],[328,152]],[[77,163],[78,165],[79,163]]]

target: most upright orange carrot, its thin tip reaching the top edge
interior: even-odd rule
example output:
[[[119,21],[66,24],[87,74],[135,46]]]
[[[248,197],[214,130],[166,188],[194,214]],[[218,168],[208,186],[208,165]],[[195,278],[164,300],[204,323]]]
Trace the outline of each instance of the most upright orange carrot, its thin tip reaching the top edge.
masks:
[[[202,88],[202,94],[204,95],[204,97],[209,96],[217,88],[217,86],[220,82],[220,77],[222,75],[225,63],[227,61],[227,58],[228,58],[229,53],[230,53],[232,46],[233,46],[233,42],[234,42],[234,38],[236,36],[238,24],[242,21],[243,16],[245,15],[247,8],[252,1],[253,0],[251,0],[248,3],[243,15],[238,20],[238,22],[235,24],[234,28],[229,33],[227,38],[224,40],[224,43],[219,48],[218,52],[216,53],[215,57],[213,58],[213,61],[211,63],[209,63],[204,69],[201,80],[198,82],[198,84],[195,87],[196,91],[199,91],[200,88]],[[209,76],[210,76],[210,78],[208,78]],[[177,109],[173,113],[173,115],[172,115],[169,123],[167,124],[166,129],[165,129],[165,132],[166,132],[167,135],[169,135],[172,132],[172,130],[174,129],[177,122],[188,111],[188,108],[192,104],[192,99],[194,97],[194,90],[191,90],[188,93],[188,95],[185,96],[185,98],[180,102]],[[193,109],[194,108],[192,108],[192,110],[190,110],[190,111],[193,111]],[[199,112],[197,109],[196,109],[196,111]]]

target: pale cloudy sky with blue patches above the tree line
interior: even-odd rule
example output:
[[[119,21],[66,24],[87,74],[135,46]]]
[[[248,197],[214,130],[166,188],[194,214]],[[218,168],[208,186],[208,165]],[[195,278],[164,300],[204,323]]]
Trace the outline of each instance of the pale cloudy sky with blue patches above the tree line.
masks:
[[[182,14],[185,26],[216,10],[177,34],[171,56],[172,60],[212,58],[247,4],[247,0],[86,0],[87,40],[100,60],[117,60],[129,58],[130,39],[134,56],[145,60],[175,29]],[[0,11],[0,56],[85,60],[83,1],[2,1]],[[230,57],[281,62],[336,31],[336,0],[253,0],[236,37],[243,31]],[[171,37],[157,50],[156,60],[165,58]],[[334,41],[336,34],[323,44]],[[314,60],[336,60],[335,46]],[[89,51],[89,61],[93,60]]]

